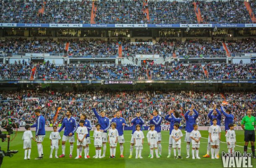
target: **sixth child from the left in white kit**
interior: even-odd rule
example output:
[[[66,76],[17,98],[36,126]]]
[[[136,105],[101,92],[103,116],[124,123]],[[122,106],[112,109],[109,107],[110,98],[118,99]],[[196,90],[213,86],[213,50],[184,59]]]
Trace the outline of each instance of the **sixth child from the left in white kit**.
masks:
[[[136,149],[136,157],[135,159],[143,159],[141,157],[141,151],[143,149],[143,143],[144,143],[144,134],[140,130],[140,125],[136,125],[136,131],[133,133],[133,138],[134,138],[134,144],[135,144],[135,149]]]

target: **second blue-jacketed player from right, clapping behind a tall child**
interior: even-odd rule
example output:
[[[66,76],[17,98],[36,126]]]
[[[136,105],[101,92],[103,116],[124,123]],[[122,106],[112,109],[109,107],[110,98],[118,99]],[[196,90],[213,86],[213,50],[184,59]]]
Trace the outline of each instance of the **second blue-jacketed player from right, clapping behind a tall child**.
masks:
[[[214,105],[213,110],[211,110],[208,114],[208,118],[210,118],[210,124],[212,126],[212,120],[214,118],[217,119],[217,125],[220,126],[220,122],[222,121],[222,114],[220,111],[217,109],[216,104]],[[208,136],[208,145],[207,145],[207,153],[203,155],[204,158],[210,157],[210,151],[212,149],[211,141],[210,141],[210,136]],[[220,145],[218,146],[218,149],[220,149]],[[218,155],[217,155],[218,157]]]

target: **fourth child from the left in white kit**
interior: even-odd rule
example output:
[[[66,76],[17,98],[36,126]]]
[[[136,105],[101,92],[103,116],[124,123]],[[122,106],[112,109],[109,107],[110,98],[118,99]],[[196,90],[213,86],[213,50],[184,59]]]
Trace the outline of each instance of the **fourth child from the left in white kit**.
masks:
[[[102,146],[102,132],[100,131],[100,124],[95,125],[96,130],[94,130],[94,146],[96,148],[95,159],[101,158],[101,146]]]

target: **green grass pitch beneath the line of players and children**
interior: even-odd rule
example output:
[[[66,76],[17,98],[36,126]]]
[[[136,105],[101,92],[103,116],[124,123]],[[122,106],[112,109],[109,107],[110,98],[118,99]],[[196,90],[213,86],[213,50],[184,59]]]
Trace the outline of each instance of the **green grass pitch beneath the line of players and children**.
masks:
[[[148,131],[143,131],[146,136]],[[32,132],[34,134],[34,132]],[[144,139],[142,157],[143,159],[135,159],[135,150],[133,150],[133,159],[129,159],[129,146],[131,140],[131,131],[125,131],[125,158],[120,158],[119,144],[117,145],[117,158],[109,159],[110,151],[109,144],[107,144],[106,157],[104,159],[93,159],[92,157],[95,155],[95,148],[93,145],[93,140],[91,140],[92,144],[90,144],[90,157],[91,159],[74,159],[76,156],[76,143],[74,145],[73,150],[73,158],[69,157],[59,158],[59,159],[49,159],[50,155],[50,140],[49,135],[51,132],[46,132],[46,137],[44,138],[43,150],[44,150],[44,159],[42,160],[34,160],[34,158],[38,157],[36,142],[32,141],[32,153],[30,160],[24,160],[24,149],[23,149],[23,140],[22,134],[23,132],[18,132],[16,138],[10,143],[11,150],[19,150],[18,154],[15,154],[12,158],[5,157],[3,159],[2,167],[26,167],[26,168],[40,168],[40,167],[132,167],[132,168],[143,168],[143,167],[197,167],[197,168],[209,168],[209,167],[223,167],[222,159],[210,159],[203,158],[203,155],[206,153],[207,148],[207,131],[201,131],[201,144],[199,149],[199,157],[201,159],[185,159],[186,153],[186,144],[184,142],[184,136],[182,138],[181,145],[181,156],[183,159],[174,159],[173,157],[173,149],[171,158],[167,158],[168,155],[168,138],[169,132],[162,131],[162,157],[160,159],[156,159],[154,155],[154,159],[149,159],[148,155],[150,153],[150,149],[147,143],[147,139]],[[183,131],[183,134],[185,132]],[[63,134],[63,132],[61,132]],[[92,134],[92,131],[91,131]],[[236,131],[236,146],[235,151],[243,151],[243,131]],[[224,136],[224,131],[222,131],[222,141],[226,142],[226,138]],[[2,150],[7,149],[7,142],[1,143]],[[251,144],[249,144],[249,148],[251,148]],[[221,151],[228,151],[226,143],[221,143],[220,145],[220,153]],[[69,155],[69,143],[66,143],[66,156]],[[248,152],[251,153],[251,149],[248,149]],[[55,151],[53,152],[53,154]],[[155,154],[155,153],[154,153]],[[59,147],[58,155],[61,155],[61,146]],[[84,151],[83,151],[84,156]],[[195,165],[196,164],[196,165]],[[256,159],[253,159],[253,167],[256,165]]]

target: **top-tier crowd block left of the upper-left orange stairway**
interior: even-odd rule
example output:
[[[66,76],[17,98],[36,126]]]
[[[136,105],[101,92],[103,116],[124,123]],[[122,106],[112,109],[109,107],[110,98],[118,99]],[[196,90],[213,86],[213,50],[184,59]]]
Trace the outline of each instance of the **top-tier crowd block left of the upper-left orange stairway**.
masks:
[[[89,24],[92,1],[2,1],[1,23]]]

